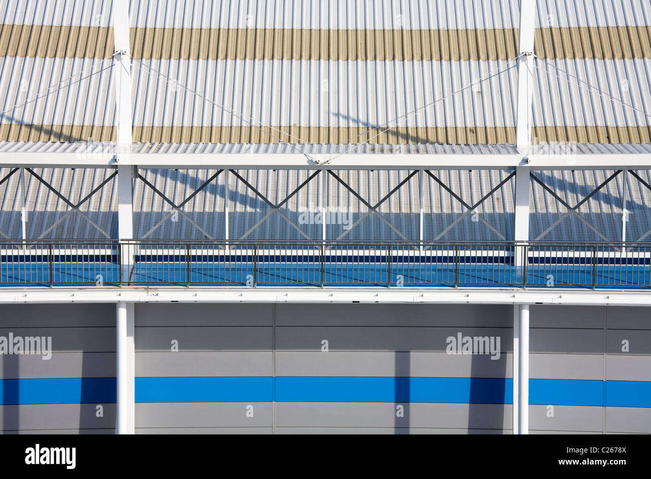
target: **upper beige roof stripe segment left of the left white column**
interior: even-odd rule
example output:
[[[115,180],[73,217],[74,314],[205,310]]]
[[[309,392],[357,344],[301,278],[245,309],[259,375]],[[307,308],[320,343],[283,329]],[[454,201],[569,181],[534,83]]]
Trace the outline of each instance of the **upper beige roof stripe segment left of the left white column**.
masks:
[[[113,53],[113,28],[0,24],[0,56],[107,58]]]

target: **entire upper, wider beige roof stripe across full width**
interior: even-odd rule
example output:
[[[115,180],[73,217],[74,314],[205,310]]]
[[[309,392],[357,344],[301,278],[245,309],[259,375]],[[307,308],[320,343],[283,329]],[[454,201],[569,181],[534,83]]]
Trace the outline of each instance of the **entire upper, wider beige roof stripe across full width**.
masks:
[[[132,28],[137,59],[495,61],[516,57],[518,29],[322,30]],[[651,26],[536,29],[548,59],[651,58]],[[0,56],[106,58],[111,27],[0,24]]]

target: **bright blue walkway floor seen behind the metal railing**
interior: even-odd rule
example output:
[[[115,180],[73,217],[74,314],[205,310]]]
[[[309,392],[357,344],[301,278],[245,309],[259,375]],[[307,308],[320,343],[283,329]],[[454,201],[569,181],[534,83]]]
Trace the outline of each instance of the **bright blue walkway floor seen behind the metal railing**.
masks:
[[[127,273],[128,270],[128,273]],[[576,287],[649,288],[649,265],[529,265],[526,281],[516,267],[499,265],[447,264],[285,264],[237,263],[3,263],[0,286],[387,286],[427,287]]]

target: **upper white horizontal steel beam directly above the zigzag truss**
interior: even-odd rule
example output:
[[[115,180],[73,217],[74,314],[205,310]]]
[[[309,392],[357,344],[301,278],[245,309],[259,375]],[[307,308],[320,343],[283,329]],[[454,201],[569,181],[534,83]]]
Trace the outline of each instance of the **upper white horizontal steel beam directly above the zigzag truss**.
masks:
[[[336,155],[333,155],[336,156]],[[83,155],[75,152],[0,152],[0,166],[29,167],[116,167],[122,164],[143,168],[229,169],[647,169],[651,154],[579,154],[571,158],[532,154],[345,154],[329,160],[327,154],[221,154],[221,153],[132,153],[119,161],[115,154]]]

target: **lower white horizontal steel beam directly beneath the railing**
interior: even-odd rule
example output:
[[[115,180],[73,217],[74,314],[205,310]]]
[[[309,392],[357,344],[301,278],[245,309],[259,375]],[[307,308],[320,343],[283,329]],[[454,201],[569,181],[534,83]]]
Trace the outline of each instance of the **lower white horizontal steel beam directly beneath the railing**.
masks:
[[[450,288],[7,288],[0,304],[17,303],[422,303],[422,304],[565,304],[576,306],[651,306],[642,291],[568,291],[562,289],[450,289]]]

